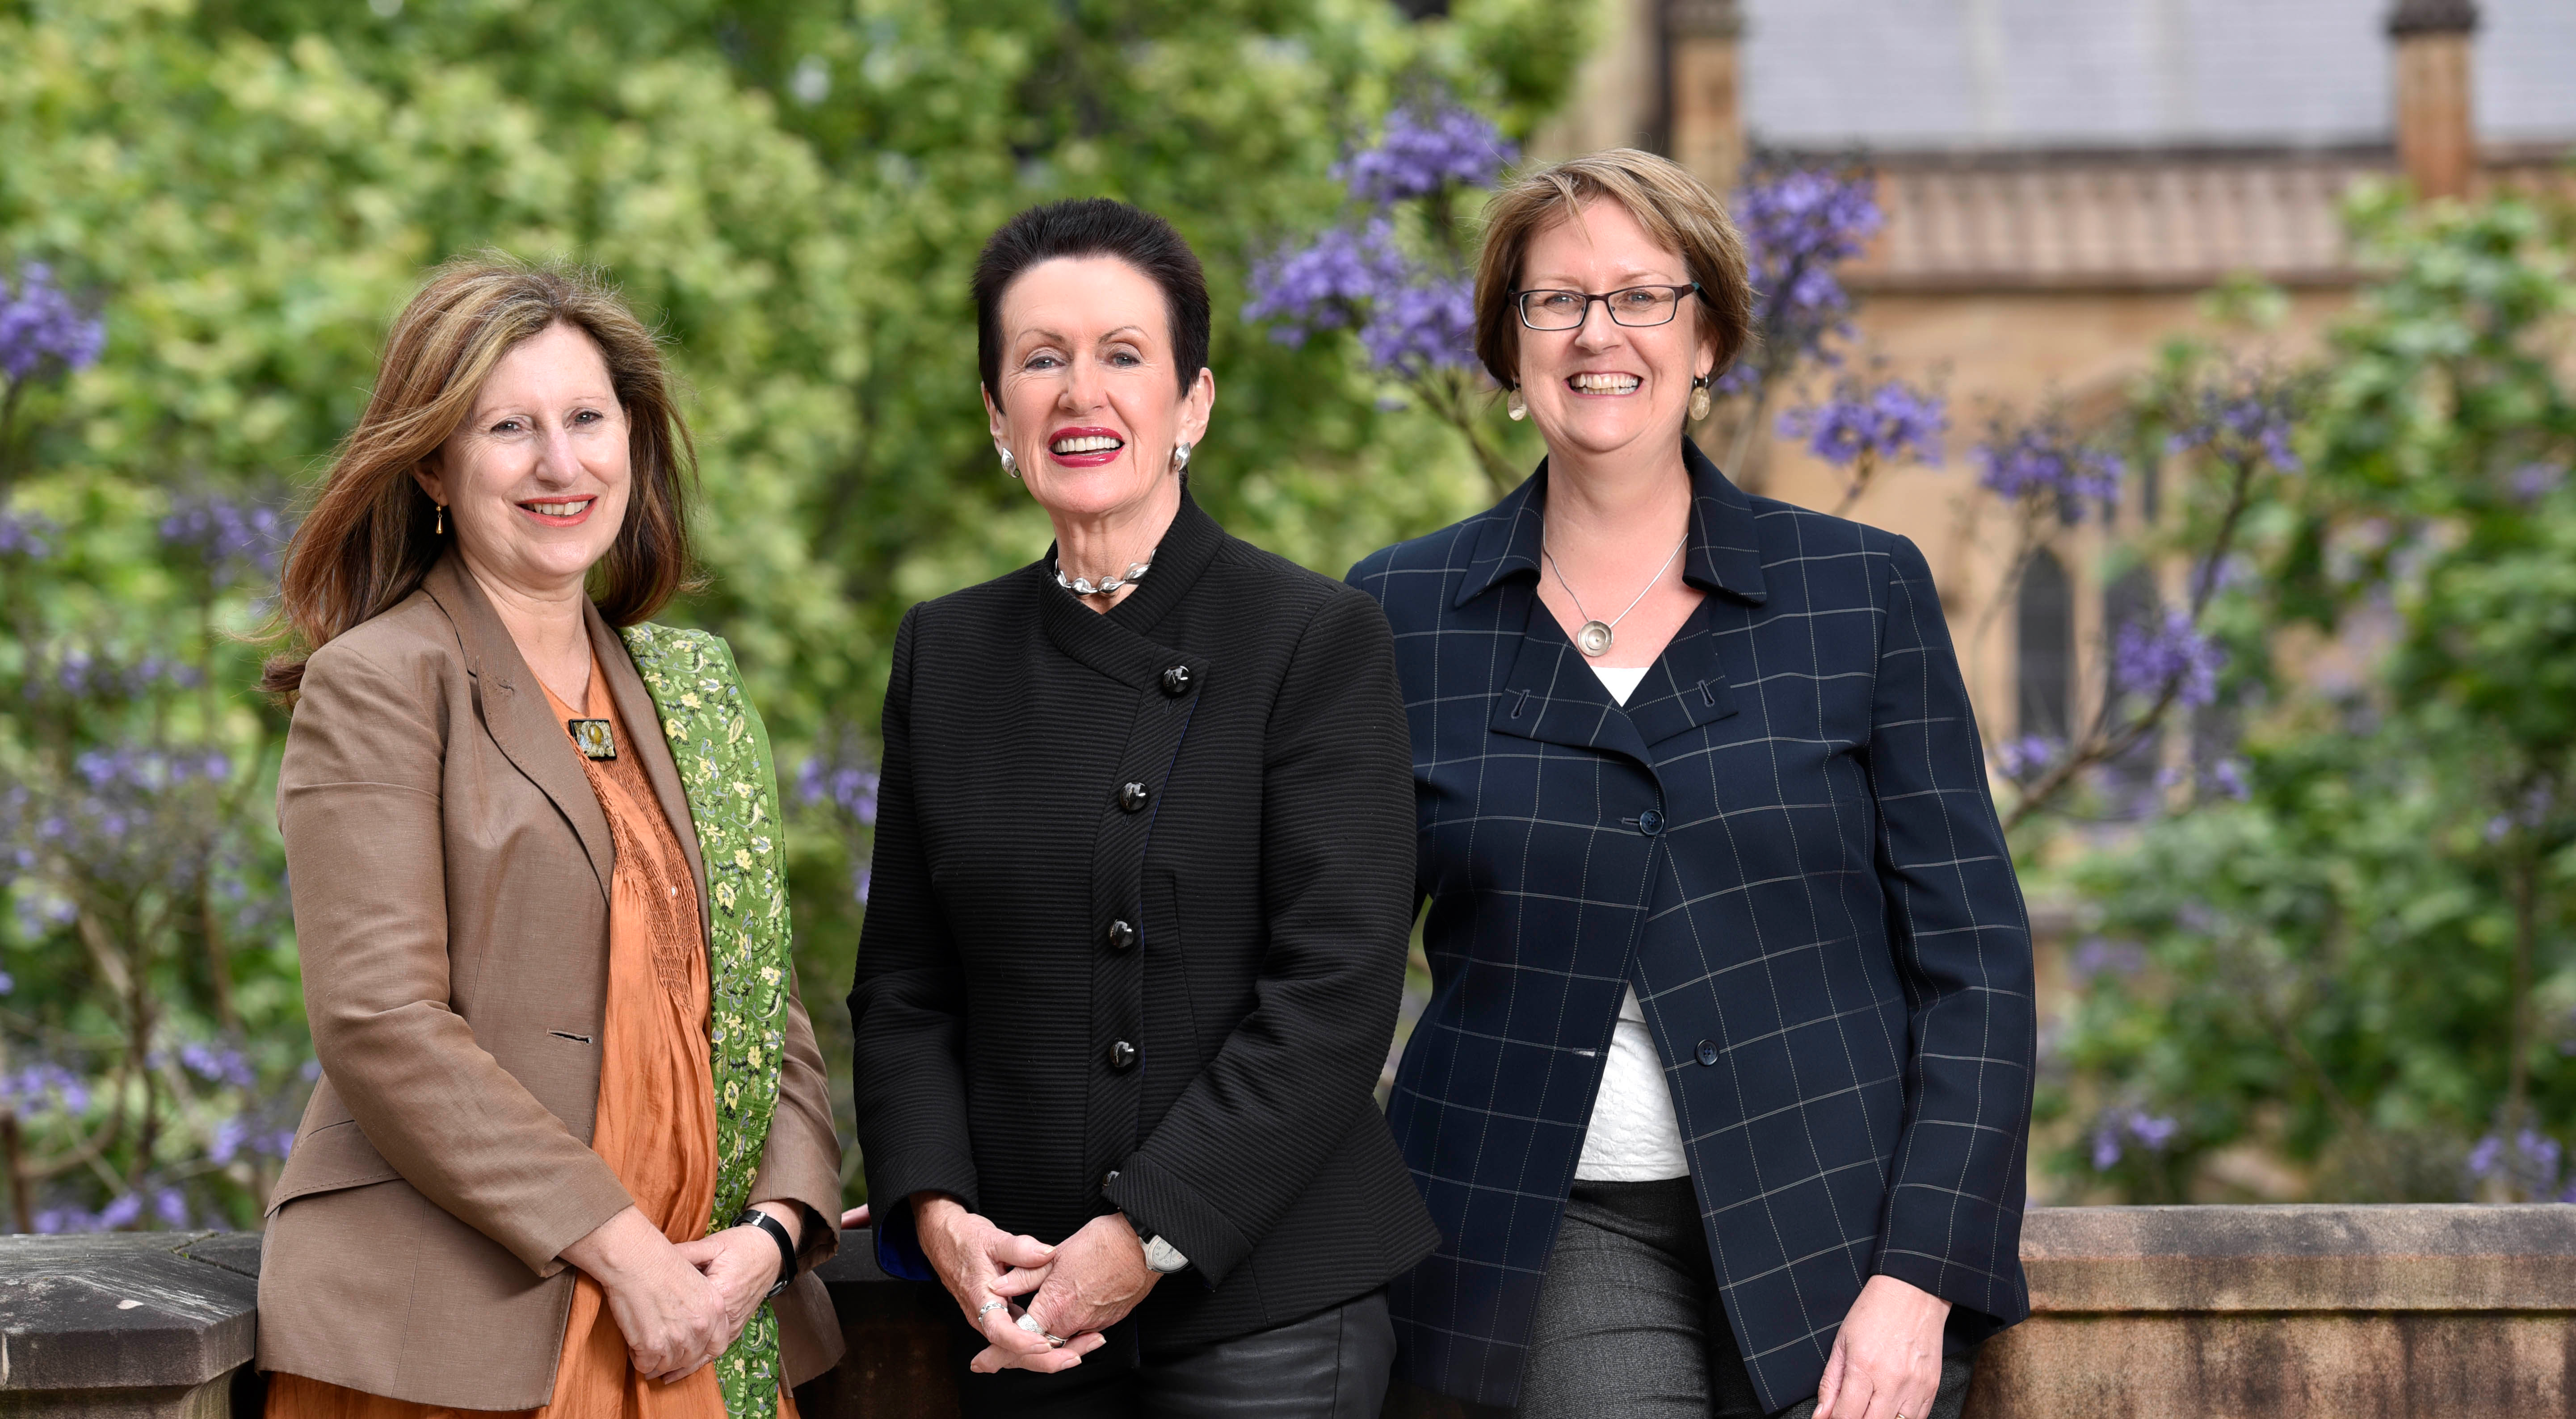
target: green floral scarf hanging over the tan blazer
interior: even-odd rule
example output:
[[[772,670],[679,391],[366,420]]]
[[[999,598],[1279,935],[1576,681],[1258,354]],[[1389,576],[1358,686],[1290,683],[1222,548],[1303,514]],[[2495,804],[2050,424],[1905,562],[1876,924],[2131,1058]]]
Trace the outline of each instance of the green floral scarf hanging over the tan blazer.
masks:
[[[788,881],[778,842],[778,760],[760,711],[742,693],[734,652],[706,631],[629,626],[626,652],[644,675],[662,734],[680,762],[688,816],[714,904],[711,1053],[716,1064],[716,1208],[708,1231],[752,1200],[752,1174],[778,1113],[778,1058],[788,1028]],[[716,1360],[726,1419],[775,1419],[778,1313],[752,1313]]]

